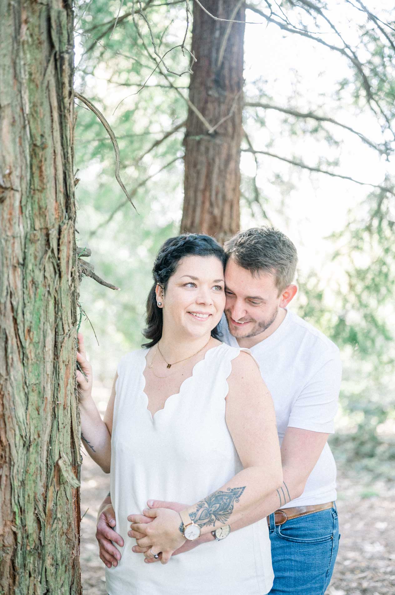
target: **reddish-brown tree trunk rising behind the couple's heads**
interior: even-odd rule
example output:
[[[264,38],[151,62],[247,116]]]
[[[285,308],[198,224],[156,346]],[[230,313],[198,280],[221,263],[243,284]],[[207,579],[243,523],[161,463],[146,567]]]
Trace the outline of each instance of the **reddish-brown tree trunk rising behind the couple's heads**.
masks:
[[[219,18],[245,18],[239,0],[202,4]],[[181,231],[208,233],[219,242],[239,230],[243,51],[244,24],[216,21],[194,2],[192,52],[197,62],[189,99],[212,127],[224,121],[210,133],[189,108]]]

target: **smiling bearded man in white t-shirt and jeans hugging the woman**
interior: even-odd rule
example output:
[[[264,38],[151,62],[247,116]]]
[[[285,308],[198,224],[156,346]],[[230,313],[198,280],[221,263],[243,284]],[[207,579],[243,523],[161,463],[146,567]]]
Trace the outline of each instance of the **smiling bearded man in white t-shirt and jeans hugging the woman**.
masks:
[[[327,444],[339,395],[339,349],[286,309],[297,291],[292,283],[297,254],[284,234],[252,228],[236,234],[225,249],[223,340],[251,349],[260,365],[276,409],[284,478],[279,490],[231,530],[267,516],[274,570],[271,595],[323,595],[340,537],[336,465]],[[121,553],[110,540],[121,547],[124,542],[111,529],[115,518],[110,502],[108,496],[99,511],[96,537],[100,558],[116,565]],[[181,511],[184,504],[149,501],[148,506]],[[209,534],[197,541],[214,538]],[[199,545],[192,544],[179,552]],[[141,552],[138,546],[133,549]]]

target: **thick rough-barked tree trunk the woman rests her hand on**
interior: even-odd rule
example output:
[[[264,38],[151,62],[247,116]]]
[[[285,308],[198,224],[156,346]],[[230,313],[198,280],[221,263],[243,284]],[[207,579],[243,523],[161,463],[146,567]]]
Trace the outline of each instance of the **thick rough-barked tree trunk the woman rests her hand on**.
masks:
[[[0,593],[78,594],[72,2],[0,17]]]

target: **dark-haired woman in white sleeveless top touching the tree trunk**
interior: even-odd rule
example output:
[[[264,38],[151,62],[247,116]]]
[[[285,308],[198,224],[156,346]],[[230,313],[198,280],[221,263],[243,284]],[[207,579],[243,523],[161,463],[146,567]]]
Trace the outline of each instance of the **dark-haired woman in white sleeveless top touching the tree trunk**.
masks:
[[[104,421],[79,337],[82,438],[110,471],[126,543],[118,565],[106,569],[109,595],[263,595],[271,588],[266,519],[228,535],[229,525],[280,486],[282,469],[273,403],[257,363],[248,350],[218,339],[225,259],[209,236],[163,244],[147,300],[148,342],[121,359]],[[180,513],[155,509],[149,524],[130,525],[128,516],[143,512],[148,498],[186,505]],[[168,564],[187,540],[211,532],[227,537]],[[132,552],[132,534],[146,558],[160,556],[162,565]]]

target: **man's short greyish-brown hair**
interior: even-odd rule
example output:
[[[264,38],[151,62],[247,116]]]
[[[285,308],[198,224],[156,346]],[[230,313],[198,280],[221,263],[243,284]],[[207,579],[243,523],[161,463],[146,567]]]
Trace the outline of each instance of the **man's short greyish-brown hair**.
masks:
[[[272,274],[279,294],[295,277],[298,253],[285,234],[274,227],[252,227],[239,231],[225,242],[228,258],[232,256],[239,267],[252,275]]]

